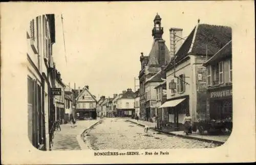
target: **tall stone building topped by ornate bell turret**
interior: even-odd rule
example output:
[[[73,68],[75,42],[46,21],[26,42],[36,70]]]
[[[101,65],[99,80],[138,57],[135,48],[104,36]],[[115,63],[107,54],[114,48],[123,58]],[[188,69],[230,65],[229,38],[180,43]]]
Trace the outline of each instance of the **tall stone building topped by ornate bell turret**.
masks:
[[[151,114],[153,114],[151,111],[154,111],[155,107],[152,107],[151,105],[152,100],[146,97],[155,92],[150,92],[150,94],[146,95],[146,81],[160,72],[161,67],[167,65],[167,63],[170,61],[170,53],[167,46],[165,45],[165,40],[163,40],[162,35],[163,28],[161,27],[161,17],[157,14],[154,19],[154,27],[152,30],[152,36],[154,40],[151,52],[148,54],[148,56],[144,56],[143,53],[141,53],[140,56],[140,113],[142,119],[147,121],[151,120]]]

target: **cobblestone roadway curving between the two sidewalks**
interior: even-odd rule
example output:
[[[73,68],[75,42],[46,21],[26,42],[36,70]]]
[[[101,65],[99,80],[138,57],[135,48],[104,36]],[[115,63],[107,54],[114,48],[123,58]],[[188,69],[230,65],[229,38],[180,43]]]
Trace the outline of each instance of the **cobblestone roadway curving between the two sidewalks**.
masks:
[[[166,135],[149,130],[148,135],[137,124],[125,119],[106,118],[82,136],[93,150],[104,149],[179,149],[214,148],[219,145]]]

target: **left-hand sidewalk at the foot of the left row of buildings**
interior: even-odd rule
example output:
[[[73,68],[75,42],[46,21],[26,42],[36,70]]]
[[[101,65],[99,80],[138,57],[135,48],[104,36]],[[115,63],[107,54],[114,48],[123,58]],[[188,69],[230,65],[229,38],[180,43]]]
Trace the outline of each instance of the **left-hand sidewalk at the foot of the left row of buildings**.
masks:
[[[98,123],[100,120],[84,120],[76,121],[76,127],[71,128],[71,125],[60,125],[61,131],[54,132],[52,151],[56,150],[82,150],[85,149],[81,139],[81,134],[84,130]]]

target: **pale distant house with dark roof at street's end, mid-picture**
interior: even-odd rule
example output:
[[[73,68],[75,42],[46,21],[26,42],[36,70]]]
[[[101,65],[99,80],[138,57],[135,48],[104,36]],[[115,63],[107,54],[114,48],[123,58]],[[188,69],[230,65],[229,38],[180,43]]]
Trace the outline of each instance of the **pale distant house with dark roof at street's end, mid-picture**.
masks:
[[[122,117],[135,115],[134,99],[135,95],[131,88],[127,91],[123,90],[117,100],[117,115]]]

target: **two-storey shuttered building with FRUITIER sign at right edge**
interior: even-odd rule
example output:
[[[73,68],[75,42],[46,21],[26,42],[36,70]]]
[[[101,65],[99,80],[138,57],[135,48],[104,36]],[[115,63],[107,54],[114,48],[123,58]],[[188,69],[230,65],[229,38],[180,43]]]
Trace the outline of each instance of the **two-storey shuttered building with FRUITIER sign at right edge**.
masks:
[[[207,111],[210,119],[228,120],[232,130],[232,42],[207,60]]]

